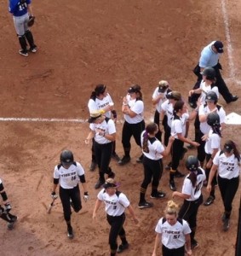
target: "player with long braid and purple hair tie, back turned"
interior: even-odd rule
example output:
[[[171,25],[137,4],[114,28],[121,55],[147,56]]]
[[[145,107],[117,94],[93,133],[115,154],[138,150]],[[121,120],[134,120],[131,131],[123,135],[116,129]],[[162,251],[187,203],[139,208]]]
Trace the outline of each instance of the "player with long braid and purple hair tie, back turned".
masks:
[[[150,123],[146,125],[146,130],[141,133],[141,145],[144,166],[144,180],[141,183],[140,201],[138,207],[140,209],[152,207],[151,202],[146,201],[146,189],[152,181],[152,194],[151,198],[164,198],[165,193],[158,191],[159,181],[164,171],[162,158],[169,155],[171,145],[174,137],[169,137],[169,144],[167,148],[158,140],[156,134],[158,133],[158,125]]]

